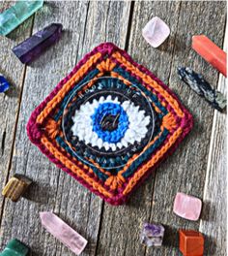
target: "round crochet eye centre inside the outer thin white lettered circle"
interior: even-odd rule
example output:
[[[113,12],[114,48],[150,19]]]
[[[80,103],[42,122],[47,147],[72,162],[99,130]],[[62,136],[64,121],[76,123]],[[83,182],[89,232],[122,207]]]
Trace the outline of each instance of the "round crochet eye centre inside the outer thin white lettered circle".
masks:
[[[96,159],[102,169],[123,167],[151,141],[154,111],[137,86],[105,77],[93,81],[79,102],[76,95],[65,107],[63,128],[72,152],[86,164],[95,166],[89,159]]]

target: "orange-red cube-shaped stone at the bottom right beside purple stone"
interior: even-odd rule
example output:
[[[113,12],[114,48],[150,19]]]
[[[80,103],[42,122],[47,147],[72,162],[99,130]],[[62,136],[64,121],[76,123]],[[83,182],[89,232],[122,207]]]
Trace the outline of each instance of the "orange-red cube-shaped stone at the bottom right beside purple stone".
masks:
[[[204,237],[193,230],[179,230],[180,251],[184,256],[203,256]]]

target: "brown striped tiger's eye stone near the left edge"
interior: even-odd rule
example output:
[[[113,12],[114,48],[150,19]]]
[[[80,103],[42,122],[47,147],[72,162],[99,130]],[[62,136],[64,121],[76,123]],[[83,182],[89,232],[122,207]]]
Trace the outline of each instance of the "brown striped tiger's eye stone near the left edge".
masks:
[[[27,176],[15,174],[3,188],[2,195],[11,199],[13,202],[16,202],[24,194],[31,183],[32,180]]]

